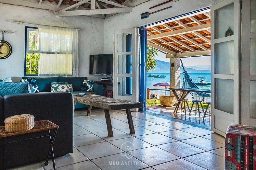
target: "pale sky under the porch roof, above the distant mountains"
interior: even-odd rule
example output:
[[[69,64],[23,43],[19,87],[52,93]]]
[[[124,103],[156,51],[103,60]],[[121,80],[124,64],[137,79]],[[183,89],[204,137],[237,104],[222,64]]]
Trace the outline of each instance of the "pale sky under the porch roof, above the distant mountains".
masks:
[[[155,56],[155,59],[161,60],[164,62],[170,62],[170,58],[166,58],[166,54],[161,51],[158,51],[158,55]],[[188,58],[183,58],[182,62],[185,66],[211,65],[211,57],[210,56],[188,57]]]

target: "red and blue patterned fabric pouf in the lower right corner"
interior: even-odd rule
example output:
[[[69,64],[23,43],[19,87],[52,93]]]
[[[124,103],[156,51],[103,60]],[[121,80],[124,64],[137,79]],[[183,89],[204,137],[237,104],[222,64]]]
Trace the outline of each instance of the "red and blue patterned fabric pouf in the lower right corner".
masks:
[[[256,170],[256,127],[230,124],[225,137],[225,170]]]

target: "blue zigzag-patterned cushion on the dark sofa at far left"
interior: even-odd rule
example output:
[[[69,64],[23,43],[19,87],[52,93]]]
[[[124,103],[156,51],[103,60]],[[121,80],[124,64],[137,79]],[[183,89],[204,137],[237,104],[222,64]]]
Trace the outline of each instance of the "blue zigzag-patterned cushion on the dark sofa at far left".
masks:
[[[0,81],[0,95],[29,93],[29,82],[2,82]]]

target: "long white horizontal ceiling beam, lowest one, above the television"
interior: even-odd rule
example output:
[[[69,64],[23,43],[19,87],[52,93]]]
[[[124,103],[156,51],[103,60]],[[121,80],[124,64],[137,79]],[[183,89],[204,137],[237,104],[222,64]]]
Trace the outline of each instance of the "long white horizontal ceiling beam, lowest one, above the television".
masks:
[[[116,14],[116,13],[129,13],[129,12],[132,12],[132,8],[109,8],[109,9],[62,11],[62,12],[56,12],[56,15],[64,17],[64,16],[96,15],[96,14]]]

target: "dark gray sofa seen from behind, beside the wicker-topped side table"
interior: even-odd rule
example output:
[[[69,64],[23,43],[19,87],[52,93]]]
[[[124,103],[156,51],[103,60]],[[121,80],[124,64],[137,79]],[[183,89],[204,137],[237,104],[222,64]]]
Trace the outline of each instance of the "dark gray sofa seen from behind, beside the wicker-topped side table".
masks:
[[[54,143],[55,156],[73,152],[73,112],[73,95],[69,92],[43,92],[0,96],[1,126],[4,125],[4,119],[18,114],[32,114],[35,117],[35,121],[48,119],[59,126]],[[38,135],[31,134],[29,137],[36,137]],[[19,136],[11,140],[21,140],[27,137]],[[0,142],[9,141],[10,139],[0,139]],[[48,149],[49,138],[1,145],[0,169],[45,160]]]

